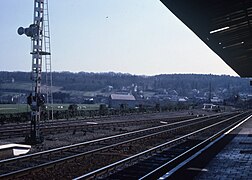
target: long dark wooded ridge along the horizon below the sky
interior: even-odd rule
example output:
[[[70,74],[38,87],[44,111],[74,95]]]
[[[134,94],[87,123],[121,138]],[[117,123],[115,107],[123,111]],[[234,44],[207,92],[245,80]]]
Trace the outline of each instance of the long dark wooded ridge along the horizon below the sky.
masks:
[[[44,74],[43,74],[43,78]],[[7,85],[10,83],[20,84]],[[21,85],[23,83],[23,85]],[[27,83],[31,83],[29,72],[0,72],[0,92],[3,90],[27,91]],[[42,82],[43,83],[43,82]],[[25,84],[25,85],[24,85]],[[157,89],[176,90],[181,95],[193,89],[212,91],[226,89],[232,93],[250,92],[249,80],[227,75],[199,74],[162,74],[156,76],[136,76],[121,73],[71,73],[53,72],[53,85],[65,91],[98,91],[108,86],[121,90],[124,87],[136,86],[143,91]],[[19,88],[18,88],[19,87]]]

